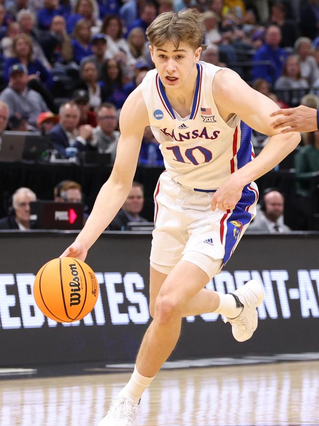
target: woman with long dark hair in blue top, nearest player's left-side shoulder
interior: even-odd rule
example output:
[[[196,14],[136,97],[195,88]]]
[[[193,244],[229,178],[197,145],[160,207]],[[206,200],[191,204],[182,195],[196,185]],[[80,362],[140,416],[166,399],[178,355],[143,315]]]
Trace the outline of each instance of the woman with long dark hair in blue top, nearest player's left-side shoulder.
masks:
[[[117,109],[122,108],[126,100],[126,91],[123,86],[123,73],[119,61],[107,59],[102,67],[102,82],[106,88],[106,101],[114,104]]]

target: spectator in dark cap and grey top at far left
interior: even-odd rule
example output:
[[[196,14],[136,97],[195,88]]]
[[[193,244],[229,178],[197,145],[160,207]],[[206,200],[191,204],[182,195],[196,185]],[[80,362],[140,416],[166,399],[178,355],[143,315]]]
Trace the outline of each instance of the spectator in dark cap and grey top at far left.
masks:
[[[27,117],[27,122],[36,127],[36,120],[40,113],[48,111],[48,107],[35,90],[27,87],[27,68],[21,63],[11,65],[9,68],[9,85],[0,94],[10,110],[10,115],[20,114]]]

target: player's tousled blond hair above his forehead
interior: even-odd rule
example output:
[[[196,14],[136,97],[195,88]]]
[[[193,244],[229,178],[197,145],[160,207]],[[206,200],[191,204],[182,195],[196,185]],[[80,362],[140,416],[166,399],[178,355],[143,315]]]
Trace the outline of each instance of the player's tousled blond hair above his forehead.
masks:
[[[165,12],[147,28],[146,35],[153,46],[161,46],[170,41],[178,49],[181,42],[186,42],[195,49],[202,47],[205,50],[203,21],[203,15],[196,9]]]

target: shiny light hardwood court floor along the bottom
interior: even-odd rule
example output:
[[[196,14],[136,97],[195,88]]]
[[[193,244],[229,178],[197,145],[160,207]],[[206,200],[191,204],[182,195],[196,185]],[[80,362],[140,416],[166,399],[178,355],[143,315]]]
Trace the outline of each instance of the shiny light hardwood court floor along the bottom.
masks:
[[[130,374],[0,381],[0,426],[96,426]],[[318,426],[319,362],[162,370],[136,426]]]

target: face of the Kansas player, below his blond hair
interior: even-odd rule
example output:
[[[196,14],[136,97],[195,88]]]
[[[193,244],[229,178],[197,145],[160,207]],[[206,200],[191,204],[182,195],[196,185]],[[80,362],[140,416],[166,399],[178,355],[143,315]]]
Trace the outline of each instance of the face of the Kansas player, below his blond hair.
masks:
[[[186,86],[196,70],[201,51],[201,47],[194,50],[186,42],[181,42],[178,49],[169,41],[161,46],[150,46],[152,60],[164,87],[173,89]]]

